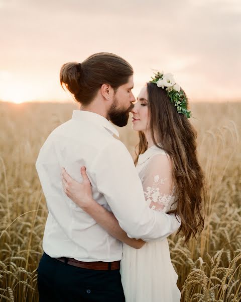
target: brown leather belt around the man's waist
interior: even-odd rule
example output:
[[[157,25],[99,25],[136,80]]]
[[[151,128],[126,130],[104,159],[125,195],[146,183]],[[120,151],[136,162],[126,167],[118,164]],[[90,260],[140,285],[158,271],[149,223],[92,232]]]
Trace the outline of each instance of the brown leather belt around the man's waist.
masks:
[[[103,261],[96,261],[96,262],[83,262],[78,261],[74,258],[55,258],[65,264],[87,268],[87,269],[95,269],[95,270],[114,270],[119,269],[121,261],[113,261],[113,262],[103,262]]]

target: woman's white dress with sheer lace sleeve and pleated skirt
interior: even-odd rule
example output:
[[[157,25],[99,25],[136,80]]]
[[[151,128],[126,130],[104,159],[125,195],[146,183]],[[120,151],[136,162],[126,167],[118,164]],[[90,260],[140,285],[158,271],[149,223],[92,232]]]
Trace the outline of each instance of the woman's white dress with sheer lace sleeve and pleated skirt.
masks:
[[[139,156],[137,170],[146,201],[157,211],[172,210],[175,201],[170,159],[152,146]],[[179,302],[178,275],[170,258],[167,239],[147,242],[141,249],[123,244],[122,284],[126,302]]]

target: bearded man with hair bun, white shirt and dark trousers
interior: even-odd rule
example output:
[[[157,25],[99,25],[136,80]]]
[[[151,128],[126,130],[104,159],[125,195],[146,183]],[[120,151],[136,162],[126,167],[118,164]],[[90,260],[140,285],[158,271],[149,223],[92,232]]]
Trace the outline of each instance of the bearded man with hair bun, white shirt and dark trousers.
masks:
[[[119,273],[122,242],[111,237],[63,192],[61,167],[81,181],[85,166],[93,198],[118,219],[130,238],[166,238],[180,223],[149,209],[133,160],[113,134],[125,126],[135,98],[133,68],[111,53],[64,64],[61,85],[81,105],[42,146],[36,169],[49,210],[38,267],[40,302],[124,302]]]

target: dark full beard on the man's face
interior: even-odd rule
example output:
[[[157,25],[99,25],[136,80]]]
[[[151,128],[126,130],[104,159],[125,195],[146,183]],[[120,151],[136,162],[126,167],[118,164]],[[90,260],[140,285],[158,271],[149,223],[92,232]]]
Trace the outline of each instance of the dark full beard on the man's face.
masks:
[[[128,109],[117,108],[117,105],[118,100],[114,98],[113,104],[111,105],[108,112],[109,119],[114,125],[118,127],[124,127],[128,123],[129,113],[134,108],[134,105],[132,104]]]

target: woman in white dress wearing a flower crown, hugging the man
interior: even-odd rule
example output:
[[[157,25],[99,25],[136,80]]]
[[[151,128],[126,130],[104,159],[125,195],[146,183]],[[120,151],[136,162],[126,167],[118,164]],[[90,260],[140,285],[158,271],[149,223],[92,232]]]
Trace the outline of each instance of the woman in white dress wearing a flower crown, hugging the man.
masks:
[[[181,218],[178,233],[182,232],[187,243],[203,229],[204,177],[197,161],[196,132],[188,120],[186,95],[172,74],[158,72],[141,90],[132,113],[133,129],[140,136],[135,163],[146,201],[157,211],[174,212]],[[85,170],[81,173],[83,183],[79,184],[63,170],[63,187],[80,207],[89,203],[91,215],[91,208],[101,206],[92,199]],[[180,301],[167,239],[130,239],[107,210],[93,218],[124,242],[121,274],[127,302]]]

